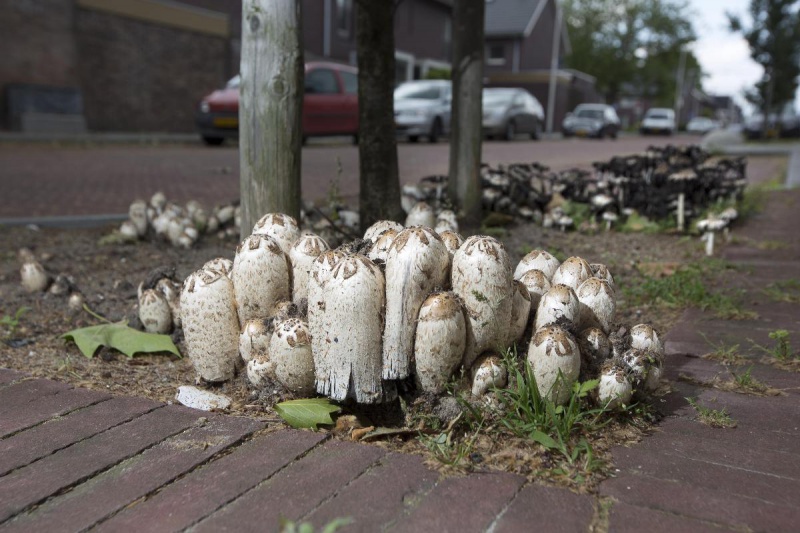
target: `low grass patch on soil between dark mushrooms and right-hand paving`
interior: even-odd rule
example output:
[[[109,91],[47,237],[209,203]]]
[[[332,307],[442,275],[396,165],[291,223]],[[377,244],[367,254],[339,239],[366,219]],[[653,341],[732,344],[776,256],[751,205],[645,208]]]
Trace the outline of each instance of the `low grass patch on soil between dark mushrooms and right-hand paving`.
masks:
[[[730,265],[719,260],[690,263],[669,276],[632,278],[622,290],[633,305],[659,303],[677,309],[698,307],[713,311],[721,318],[753,318],[754,313],[742,309],[738,294],[713,290],[713,280],[728,268]]]

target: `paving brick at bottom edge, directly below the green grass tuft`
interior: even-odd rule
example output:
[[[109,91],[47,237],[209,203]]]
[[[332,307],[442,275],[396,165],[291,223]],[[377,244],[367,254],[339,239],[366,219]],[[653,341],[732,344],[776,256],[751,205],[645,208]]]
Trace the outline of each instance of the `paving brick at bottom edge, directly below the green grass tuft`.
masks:
[[[492,531],[513,533],[536,530],[588,531],[594,515],[594,499],[567,489],[528,485],[500,516]]]

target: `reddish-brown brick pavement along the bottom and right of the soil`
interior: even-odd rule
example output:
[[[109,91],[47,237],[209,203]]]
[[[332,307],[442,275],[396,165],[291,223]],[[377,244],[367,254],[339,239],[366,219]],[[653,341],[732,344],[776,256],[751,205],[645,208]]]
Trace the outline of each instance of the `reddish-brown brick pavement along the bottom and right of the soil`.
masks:
[[[735,229],[723,257],[739,265],[734,284],[758,318],[684,314],[666,337],[665,418],[612,451],[615,476],[596,496],[497,472],[441,478],[416,456],[0,369],[0,530],[273,531],[280,517],[321,526],[347,516],[352,531],[796,531],[800,373],[761,363],[749,339],[766,344],[775,329],[800,338],[800,304],[764,292],[800,280],[799,202],[800,190],[772,193]],[[729,379],[700,357],[711,343],[739,344],[752,375],[783,394],[681,378]],[[699,423],[686,397],[725,408],[737,427]]]

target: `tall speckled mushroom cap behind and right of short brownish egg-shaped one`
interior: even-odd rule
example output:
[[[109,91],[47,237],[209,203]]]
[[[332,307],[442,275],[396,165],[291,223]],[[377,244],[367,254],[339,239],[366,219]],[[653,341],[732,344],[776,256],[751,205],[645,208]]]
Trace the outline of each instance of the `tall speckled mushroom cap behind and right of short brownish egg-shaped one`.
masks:
[[[503,349],[511,324],[511,263],[503,244],[474,235],[453,256],[453,292],[464,302],[469,324],[464,367],[487,350]]]

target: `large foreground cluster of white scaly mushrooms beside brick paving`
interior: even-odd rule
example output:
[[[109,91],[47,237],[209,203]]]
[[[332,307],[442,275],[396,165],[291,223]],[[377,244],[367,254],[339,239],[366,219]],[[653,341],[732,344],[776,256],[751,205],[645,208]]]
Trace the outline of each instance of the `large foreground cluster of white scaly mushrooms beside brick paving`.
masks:
[[[462,369],[479,396],[506,385],[500,354],[527,344],[537,384],[555,401],[579,377],[605,379],[600,401],[618,404],[658,383],[658,335],[615,329],[604,265],[537,250],[514,269],[493,237],[436,226],[380,221],[329,249],[292,217],[265,215],[233,262],[207,263],[183,283],[180,317],[199,376],[225,381],[246,368],[255,387],[375,404],[406,380],[440,394]]]

